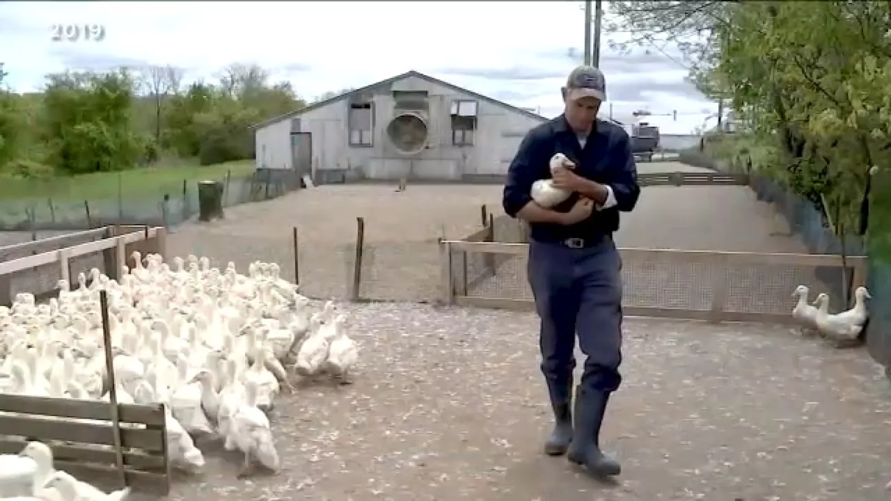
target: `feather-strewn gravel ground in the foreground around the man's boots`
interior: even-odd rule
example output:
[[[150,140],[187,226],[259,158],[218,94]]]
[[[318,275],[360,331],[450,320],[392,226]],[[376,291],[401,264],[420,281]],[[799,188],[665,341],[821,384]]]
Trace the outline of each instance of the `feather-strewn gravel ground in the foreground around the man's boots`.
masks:
[[[887,499],[891,402],[862,350],[768,325],[628,319],[603,433],[625,472],[602,484],[540,453],[534,315],[342,308],[362,350],[355,384],[280,400],[282,472],[235,480],[237,458],[208,453],[173,499]]]

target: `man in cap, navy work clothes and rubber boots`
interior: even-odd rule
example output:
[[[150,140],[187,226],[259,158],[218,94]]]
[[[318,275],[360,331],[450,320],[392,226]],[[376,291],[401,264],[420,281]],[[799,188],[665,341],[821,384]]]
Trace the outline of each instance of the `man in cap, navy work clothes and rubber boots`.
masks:
[[[576,68],[562,93],[563,114],[529,131],[519,145],[503,204],[530,227],[527,274],[541,317],[541,368],[556,421],[544,451],[566,453],[572,463],[604,477],[621,472],[599,440],[607,400],[621,382],[622,262],[612,234],[619,211],[634,209],[640,187],[627,133],[597,119],[606,100],[601,70]],[[570,161],[552,174],[555,153]],[[535,181],[548,177],[573,192],[553,209],[530,194]],[[573,406],[576,333],[587,358]]]

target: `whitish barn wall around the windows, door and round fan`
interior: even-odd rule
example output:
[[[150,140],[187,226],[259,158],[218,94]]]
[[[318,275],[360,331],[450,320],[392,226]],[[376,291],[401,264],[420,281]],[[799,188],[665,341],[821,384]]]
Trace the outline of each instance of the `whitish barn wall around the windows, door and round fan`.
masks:
[[[389,141],[387,127],[398,112],[393,91],[429,94],[428,110],[415,111],[427,122],[428,149],[406,156]],[[465,99],[478,101],[474,144],[454,146],[450,111],[455,100]],[[373,103],[372,145],[350,145],[349,104],[365,100]],[[430,180],[503,176],[522,136],[542,121],[472,95],[456,94],[449,87],[423,78],[407,77],[364,95],[353,94],[301,113],[296,121],[283,120],[257,130],[257,165],[263,161],[270,166],[290,168],[291,162],[282,159],[290,158],[290,132],[296,126],[300,132],[312,134],[314,177],[321,183],[362,177],[398,179],[406,173]]]

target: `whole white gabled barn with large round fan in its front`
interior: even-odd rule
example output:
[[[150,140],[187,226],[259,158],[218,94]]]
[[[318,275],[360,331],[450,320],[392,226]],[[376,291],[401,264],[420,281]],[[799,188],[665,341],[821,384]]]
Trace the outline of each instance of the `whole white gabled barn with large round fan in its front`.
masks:
[[[257,168],[315,183],[503,177],[544,117],[417,71],[257,124]]]

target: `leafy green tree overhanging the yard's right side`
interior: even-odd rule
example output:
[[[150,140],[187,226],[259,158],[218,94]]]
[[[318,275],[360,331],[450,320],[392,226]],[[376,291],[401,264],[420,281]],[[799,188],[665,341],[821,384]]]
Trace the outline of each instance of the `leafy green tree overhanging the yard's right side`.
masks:
[[[738,142],[759,150],[761,170],[824,209],[838,233],[858,232],[870,172],[887,171],[891,147],[889,4],[610,6],[614,28],[632,32],[622,46],[678,45],[691,81],[746,125]],[[873,205],[889,194],[873,193]]]

